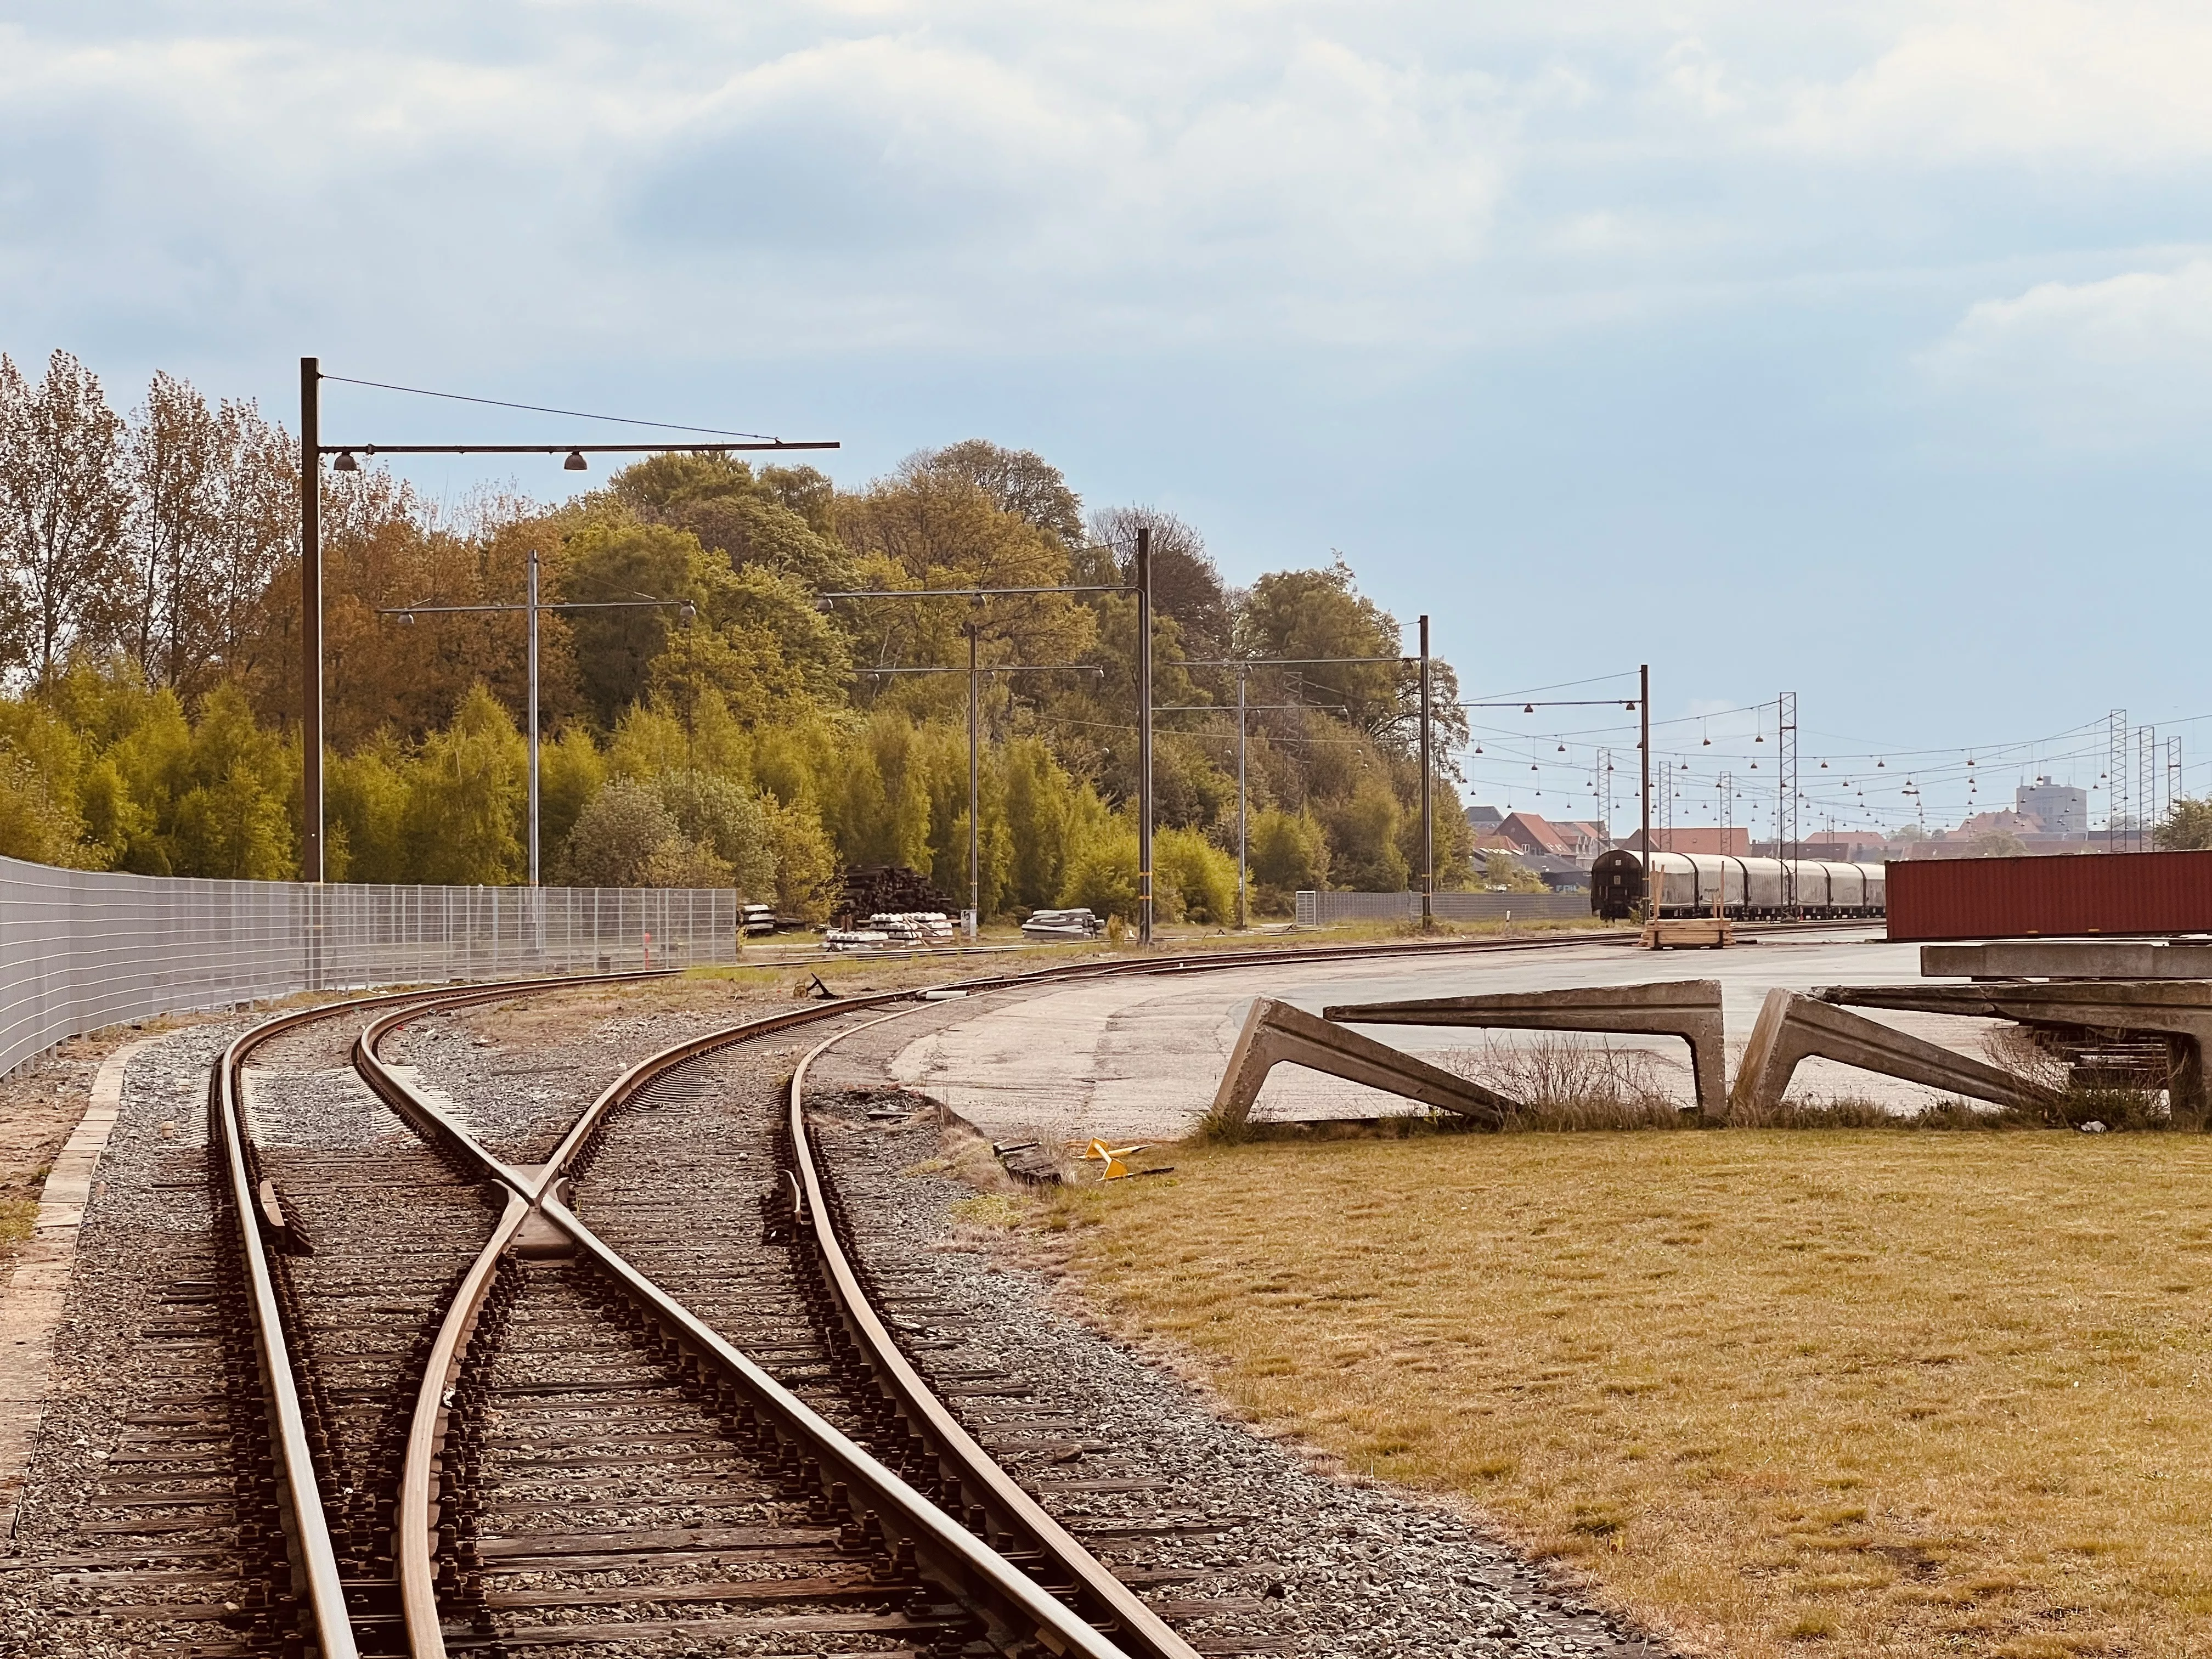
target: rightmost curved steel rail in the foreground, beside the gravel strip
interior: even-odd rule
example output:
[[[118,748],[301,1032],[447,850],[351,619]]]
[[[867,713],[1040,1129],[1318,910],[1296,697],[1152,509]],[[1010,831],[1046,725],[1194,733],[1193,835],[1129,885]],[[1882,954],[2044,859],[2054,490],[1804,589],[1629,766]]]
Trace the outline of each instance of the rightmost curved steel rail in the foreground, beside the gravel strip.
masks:
[[[927,1006],[927,1004],[925,1004]],[[1128,1652],[1144,1655],[1146,1659],[1197,1659],[1197,1650],[1183,1641],[1168,1624],[1152,1613],[1121,1579],[1108,1573],[1099,1559],[1084,1548],[1057,1520],[1046,1513],[1046,1509],[1031,1498],[1022,1486],[998,1467],[960,1420],[945,1409],[936,1391],[922,1380],[920,1371],[907,1360],[905,1352],[885,1329],[883,1318],[876,1314],[860,1285],[858,1274],[852,1270],[852,1261],[845,1254],[843,1241],[836,1237],[836,1225],[832,1221],[830,1194],[823,1190],[821,1168],[814,1164],[814,1146],[807,1135],[805,1115],[805,1086],[807,1066],[814,1064],[827,1048],[845,1037],[856,1037],[863,1031],[874,1031],[891,1020],[902,1020],[920,1009],[900,1009],[898,1013],[887,1013],[867,1024],[838,1031],[836,1035],[823,1037],[814,1048],[810,1048],[799,1066],[792,1071],[790,1084],[790,1126],[792,1126],[792,1157],[799,1161],[801,1194],[805,1199],[803,1221],[810,1223],[814,1234],[814,1248],[821,1252],[823,1267],[830,1274],[830,1290],[838,1298],[838,1307],[845,1314],[845,1323],[867,1354],[867,1363],[876,1371],[876,1380],[883,1383],[898,1409],[916,1429],[925,1431],[938,1449],[942,1462],[953,1464],[953,1478],[962,1486],[975,1486],[991,1502],[991,1509],[1000,1511],[1013,1522],[1018,1533],[1026,1533],[1037,1546],[1042,1546],[1053,1564],[1062,1571],[1075,1575],[1077,1586],[1095,1601],[1113,1621],[1121,1628],[1124,1648]]]

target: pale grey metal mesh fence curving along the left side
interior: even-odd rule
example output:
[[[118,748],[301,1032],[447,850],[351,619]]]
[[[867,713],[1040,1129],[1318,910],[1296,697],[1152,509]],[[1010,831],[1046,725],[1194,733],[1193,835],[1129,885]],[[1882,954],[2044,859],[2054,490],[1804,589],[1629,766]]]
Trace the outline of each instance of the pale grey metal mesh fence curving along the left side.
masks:
[[[732,960],[726,887],[307,887],[0,858],[0,1075],[119,1020],[290,991]]]

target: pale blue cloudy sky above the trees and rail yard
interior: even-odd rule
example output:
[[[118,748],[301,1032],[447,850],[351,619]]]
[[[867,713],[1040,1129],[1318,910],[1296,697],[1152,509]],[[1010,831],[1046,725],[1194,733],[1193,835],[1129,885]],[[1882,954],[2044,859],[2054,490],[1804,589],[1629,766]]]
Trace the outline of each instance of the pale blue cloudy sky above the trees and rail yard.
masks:
[[[2110,710],[2212,790],[2205,84],[2201,4],[11,0],[0,349],[843,484],[984,436],[1232,582],[1340,551],[1471,697],[1648,661],[1683,821],[1783,690],[1924,774],[1807,823],[2104,814]],[[1473,714],[1475,796],[1588,816],[1621,732]]]

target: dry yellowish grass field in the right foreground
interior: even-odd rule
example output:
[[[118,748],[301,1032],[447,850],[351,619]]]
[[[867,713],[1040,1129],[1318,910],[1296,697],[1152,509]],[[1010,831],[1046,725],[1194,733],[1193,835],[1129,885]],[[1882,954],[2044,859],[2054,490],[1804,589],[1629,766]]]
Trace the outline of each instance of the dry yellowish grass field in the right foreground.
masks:
[[[1172,1161],[1040,1214],[1115,1325],[1657,1628],[1728,1655],[2212,1652],[2203,1137]]]

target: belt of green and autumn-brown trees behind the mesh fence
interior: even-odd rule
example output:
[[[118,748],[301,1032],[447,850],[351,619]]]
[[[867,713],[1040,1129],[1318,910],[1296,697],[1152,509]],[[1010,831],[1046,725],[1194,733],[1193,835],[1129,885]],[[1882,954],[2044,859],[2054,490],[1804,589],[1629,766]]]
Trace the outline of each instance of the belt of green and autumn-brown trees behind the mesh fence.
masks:
[[[55,352],[0,356],[0,854],[93,869],[296,872],[296,460],[250,403],[157,374],[119,416]],[[1152,507],[1084,511],[1042,456],[980,438],[841,491],[812,467],[668,453],[546,507],[431,504],[378,465],[325,473],[327,874],[526,874],[522,617],[549,602],[546,865],[604,885],[726,885],[818,916],[838,865],[967,889],[967,655],[987,916],[1135,902],[1135,599],[1152,535],[1161,914],[1237,914],[1237,677],[1259,907],[1402,887],[1418,768],[1398,624],[1352,568],[1223,582]],[[980,604],[849,588],[1088,588]],[[666,602],[628,606],[639,595]],[[409,608],[420,611],[409,611]],[[1325,670],[1267,659],[1376,657]],[[1217,659],[1250,661],[1248,668]],[[945,670],[898,672],[874,670]],[[1458,712],[1438,666],[1444,739]],[[1469,876],[1438,774],[1442,876]]]

